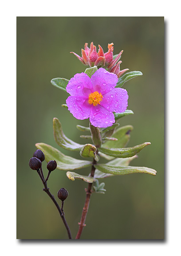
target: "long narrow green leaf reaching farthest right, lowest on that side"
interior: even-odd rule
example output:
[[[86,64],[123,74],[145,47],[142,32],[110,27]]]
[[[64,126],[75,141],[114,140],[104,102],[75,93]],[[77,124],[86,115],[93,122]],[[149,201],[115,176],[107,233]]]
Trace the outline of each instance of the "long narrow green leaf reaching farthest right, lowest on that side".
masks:
[[[156,175],[156,171],[147,167],[135,167],[135,166],[114,166],[106,164],[96,164],[95,167],[102,172],[112,175],[126,175],[131,173],[147,173],[150,175]]]

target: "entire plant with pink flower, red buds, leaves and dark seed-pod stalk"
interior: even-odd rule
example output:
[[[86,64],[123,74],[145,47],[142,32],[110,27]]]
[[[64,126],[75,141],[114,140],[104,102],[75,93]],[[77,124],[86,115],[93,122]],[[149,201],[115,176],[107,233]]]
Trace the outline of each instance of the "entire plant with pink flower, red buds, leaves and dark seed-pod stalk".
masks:
[[[133,114],[133,111],[127,110],[128,93],[121,87],[130,79],[142,75],[139,71],[125,73],[128,69],[120,70],[122,61],[121,51],[113,55],[113,43],[108,44],[108,52],[104,53],[99,45],[98,53],[96,46],[91,43],[90,49],[85,44],[82,49],[82,57],[77,55],[83,65],[89,68],[83,73],[77,73],[70,80],[65,78],[54,78],[51,84],[67,91],[70,94],[66,100],[66,107],[73,116],[79,120],[90,120],[90,126],[84,127],[77,125],[81,131],[89,131],[90,135],[81,135],[81,138],[91,139],[91,143],[84,145],[72,141],[63,133],[62,125],[59,119],[53,119],[53,130],[55,142],[66,150],[79,151],[83,158],[92,158],[92,161],[75,159],[63,154],[56,148],[45,143],[36,143],[37,150],[29,161],[31,169],[36,170],[43,183],[43,191],[50,196],[67,229],[69,239],[72,239],[70,228],[65,219],[63,205],[68,196],[68,191],[61,188],[58,191],[58,198],[62,201],[61,207],[55,197],[47,187],[47,181],[52,171],[59,169],[66,171],[67,178],[75,181],[82,179],[88,183],[86,189],[86,200],[83,207],[79,230],[75,239],[80,236],[85,227],[85,220],[89,208],[89,202],[92,193],[105,193],[105,183],[99,183],[99,179],[113,175],[126,175],[131,173],[146,173],[156,175],[156,171],[147,167],[132,167],[130,162],[137,157],[137,154],[150,145],[145,142],[134,147],[126,147],[130,139],[132,126],[127,125],[119,127],[118,119]],[[125,73],[123,75],[123,73]],[[101,158],[108,160],[107,163],[98,163]],[[42,162],[46,160],[48,174],[44,178]],[[81,175],[75,173],[75,170],[91,167],[90,174]]]

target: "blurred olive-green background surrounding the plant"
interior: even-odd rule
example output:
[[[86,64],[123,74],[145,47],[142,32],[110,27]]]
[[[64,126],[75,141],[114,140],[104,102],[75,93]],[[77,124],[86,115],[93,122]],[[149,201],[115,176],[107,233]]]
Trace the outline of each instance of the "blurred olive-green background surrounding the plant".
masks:
[[[83,72],[87,66],[70,52],[80,55],[91,41],[104,52],[113,42],[114,54],[124,50],[121,69],[143,73],[123,86],[134,115],[119,123],[134,126],[127,146],[151,142],[131,165],[153,168],[157,175],[100,179],[106,193],[91,196],[81,239],[164,239],[164,17],[17,17],[17,239],[67,239],[55,205],[28,162],[36,142],[81,159],[79,152],[56,145],[52,120],[58,118],[67,137],[81,144],[88,141],[79,137],[83,133],[76,125],[88,126],[89,120],[77,120],[61,107],[68,94],[50,81]],[[47,173],[45,162],[43,170]],[[55,197],[61,187],[68,190],[64,211],[75,238],[87,183],[56,170],[48,187]]]

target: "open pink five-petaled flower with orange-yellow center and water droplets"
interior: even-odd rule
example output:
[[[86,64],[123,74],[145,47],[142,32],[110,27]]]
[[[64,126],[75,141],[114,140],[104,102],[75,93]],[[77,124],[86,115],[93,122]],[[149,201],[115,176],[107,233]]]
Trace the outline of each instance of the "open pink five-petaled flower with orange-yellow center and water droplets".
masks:
[[[118,77],[114,73],[99,68],[91,78],[86,73],[77,73],[67,85],[66,100],[68,110],[77,119],[90,118],[93,126],[112,126],[114,114],[122,113],[128,106],[125,89],[115,88]]]

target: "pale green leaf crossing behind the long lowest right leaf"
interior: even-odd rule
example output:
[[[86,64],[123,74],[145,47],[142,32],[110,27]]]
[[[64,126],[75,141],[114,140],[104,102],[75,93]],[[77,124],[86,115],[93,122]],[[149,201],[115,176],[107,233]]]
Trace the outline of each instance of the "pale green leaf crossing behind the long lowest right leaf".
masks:
[[[128,158],[114,158],[114,160],[106,163],[105,165],[128,166],[130,164],[130,162],[132,160],[134,160],[135,158],[138,158],[138,156],[134,155],[134,156],[128,157]],[[114,176],[114,175],[110,174],[110,173],[104,173],[102,171],[99,171],[98,169],[95,169],[94,178],[96,178],[96,179],[106,178],[106,177],[110,177],[110,176]]]

